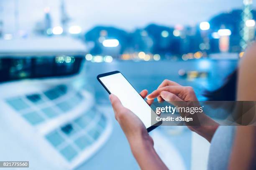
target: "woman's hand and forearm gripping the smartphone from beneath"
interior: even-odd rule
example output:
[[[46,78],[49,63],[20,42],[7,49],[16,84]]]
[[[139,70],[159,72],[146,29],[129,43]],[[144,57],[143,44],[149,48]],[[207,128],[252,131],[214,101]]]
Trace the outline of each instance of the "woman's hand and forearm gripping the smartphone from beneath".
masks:
[[[143,90],[140,93],[143,98],[145,98],[147,94],[147,90]],[[109,98],[115,112],[115,119],[125,133],[131,151],[140,165],[140,168],[142,170],[168,169],[154,150],[154,142],[151,136],[148,135],[143,122],[141,122],[131,110],[123,107],[118,97],[111,94]],[[148,100],[147,102],[151,104],[153,100]]]

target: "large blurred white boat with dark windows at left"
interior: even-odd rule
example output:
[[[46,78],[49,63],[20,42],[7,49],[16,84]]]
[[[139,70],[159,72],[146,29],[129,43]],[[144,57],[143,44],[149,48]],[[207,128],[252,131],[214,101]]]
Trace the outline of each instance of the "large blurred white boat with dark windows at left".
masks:
[[[46,42],[44,40],[41,45]],[[61,42],[64,47],[65,42],[64,39]],[[41,43],[40,38],[34,43]],[[54,40],[49,38],[49,43],[54,44]],[[0,60],[15,56],[23,56],[25,60],[84,56],[86,48],[81,43],[78,49],[78,43],[74,43],[73,50],[69,47],[69,50],[61,51],[61,45],[58,45],[56,50],[51,48],[51,52],[34,50],[35,53],[30,47],[25,50],[25,45],[22,50],[13,49],[13,52],[9,47],[8,52],[0,50]],[[17,47],[16,43],[13,45],[13,48]],[[18,57],[18,60],[23,59]],[[72,65],[70,62],[64,64]],[[24,70],[16,71],[19,74]],[[69,75],[75,73],[69,72]],[[38,76],[43,79],[31,79],[27,71],[25,77],[12,76],[7,77],[12,81],[0,84],[0,160],[30,161],[31,169],[74,169],[91,158],[108,140],[112,130],[110,117],[97,110],[92,92],[77,85],[81,75],[55,75],[54,78],[44,75]],[[26,79],[19,80],[23,78]]]

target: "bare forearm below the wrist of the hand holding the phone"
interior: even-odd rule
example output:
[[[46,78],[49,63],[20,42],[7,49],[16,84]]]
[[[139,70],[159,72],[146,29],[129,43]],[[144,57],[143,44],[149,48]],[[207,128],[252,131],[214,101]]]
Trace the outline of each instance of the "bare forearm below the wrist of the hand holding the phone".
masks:
[[[145,138],[136,138],[129,140],[129,143],[133,156],[142,170],[168,169],[154,150],[152,141]]]

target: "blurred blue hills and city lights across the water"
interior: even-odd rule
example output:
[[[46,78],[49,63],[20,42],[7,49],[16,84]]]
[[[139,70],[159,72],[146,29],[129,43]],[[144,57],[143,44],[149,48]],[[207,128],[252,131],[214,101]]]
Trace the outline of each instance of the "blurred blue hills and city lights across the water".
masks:
[[[251,7],[251,0],[248,0],[244,10],[220,13],[210,18],[209,22],[197,25],[167,27],[149,24],[133,32],[96,26],[85,33],[85,42],[93,44],[90,50],[92,55],[102,56],[133,55],[142,51],[149,55],[160,54],[161,59],[168,59],[175,56],[182,58],[184,54],[195,52],[202,52],[204,56],[219,52],[240,53],[255,39],[255,18],[256,11]],[[118,40],[118,46],[105,47],[102,42],[108,39]]]

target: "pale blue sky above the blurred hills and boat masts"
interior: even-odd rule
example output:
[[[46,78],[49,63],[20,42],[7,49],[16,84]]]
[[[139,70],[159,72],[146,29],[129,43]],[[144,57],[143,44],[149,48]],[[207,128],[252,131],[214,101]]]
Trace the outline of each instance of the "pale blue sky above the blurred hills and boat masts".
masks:
[[[4,23],[3,32],[15,32],[15,2],[18,4],[19,30],[31,32],[36,23],[44,19],[44,9],[46,7],[50,9],[52,26],[61,25],[60,0],[23,0],[22,3],[18,0],[10,0],[0,2],[0,9],[2,9],[0,19],[3,18]],[[130,0],[125,2],[118,0],[108,2],[65,0],[65,2],[67,14],[72,19],[69,25],[79,25],[82,27],[82,31],[88,31],[96,25],[114,26],[127,31],[142,28],[149,23],[166,26],[176,24],[194,25],[209,20],[218,13],[243,8],[242,0],[226,0],[225,2],[221,0],[195,0],[193,2],[189,0],[172,2],[168,0],[158,2],[153,0]],[[97,5],[97,10],[95,10],[95,5]],[[175,7],[171,8],[170,6]],[[253,8],[255,7],[256,2],[254,1]],[[182,13],[179,13],[180,11]],[[175,15],[175,13],[180,15]]]

